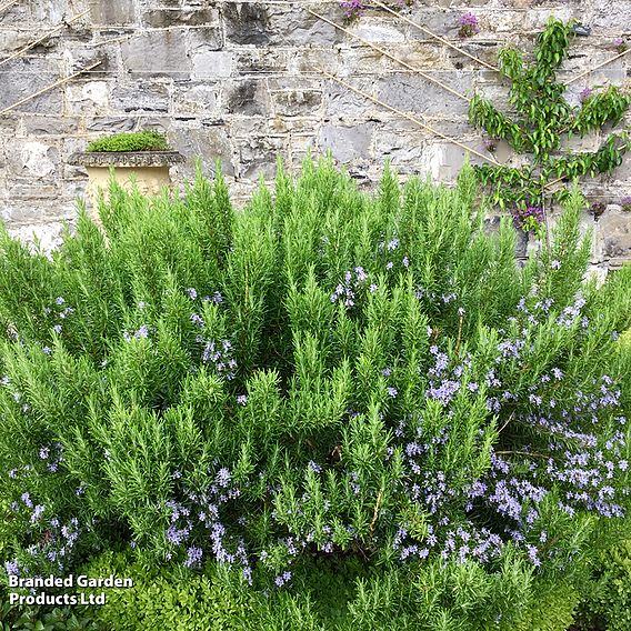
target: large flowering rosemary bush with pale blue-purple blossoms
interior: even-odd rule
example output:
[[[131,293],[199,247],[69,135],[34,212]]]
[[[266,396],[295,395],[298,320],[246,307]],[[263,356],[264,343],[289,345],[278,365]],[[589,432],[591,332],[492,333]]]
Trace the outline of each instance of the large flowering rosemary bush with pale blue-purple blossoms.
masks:
[[[112,183],[51,257],[2,232],[7,571],[122,542],[287,604],[355,559],[359,628],[563,629],[629,503],[631,269],[584,280],[578,192],[523,267],[477,197],[308,160],[239,212]]]

